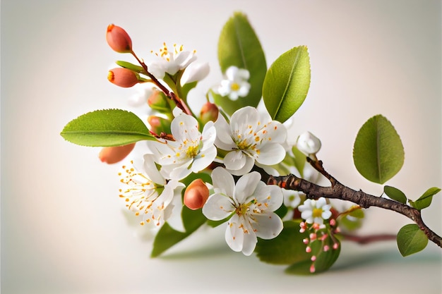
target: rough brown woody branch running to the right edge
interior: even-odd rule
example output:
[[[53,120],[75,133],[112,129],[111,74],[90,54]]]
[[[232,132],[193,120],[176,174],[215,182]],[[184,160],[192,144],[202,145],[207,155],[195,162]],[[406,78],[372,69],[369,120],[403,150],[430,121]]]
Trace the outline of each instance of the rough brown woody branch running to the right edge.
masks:
[[[422,220],[422,214],[419,209],[415,209],[414,207],[410,207],[406,204],[402,204],[400,202],[377,197],[374,195],[369,195],[362,190],[353,190],[352,188],[348,188],[345,185],[342,185],[336,178],[331,176],[325,169],[323,169],[322,161],[313,161],[309,157],[307,157],[307,161],[313,166],[314,169],[319,171],[325,178],[330,180],[330,187],[323,187],[320,185],[316,185],[315,183],[311,183],[308,180],[304,180],[302,178],[298,178],[293,174],[288,176],[269,176],[264,175],[263,180],[266,180],[268,185],[278,185],[281,188],[285,188],[287,190],[296,190],[300,192],[304,192],[306,197],[309,199],[317,200],[321,197],[330,198],[330,199],[340,199],[350,201],[356,204],[359,204],[363,208],[369,207],[381,207],[383,209],[392,210],[393,212],[398,212],[404,216],[407,216],[409,219],[412,219],[417,226],[425,233],[426,237],[434,242],[439,247],[442,247],[442,238],[441,236],[431,231],[431,229],[426,226],[424,221]]]

